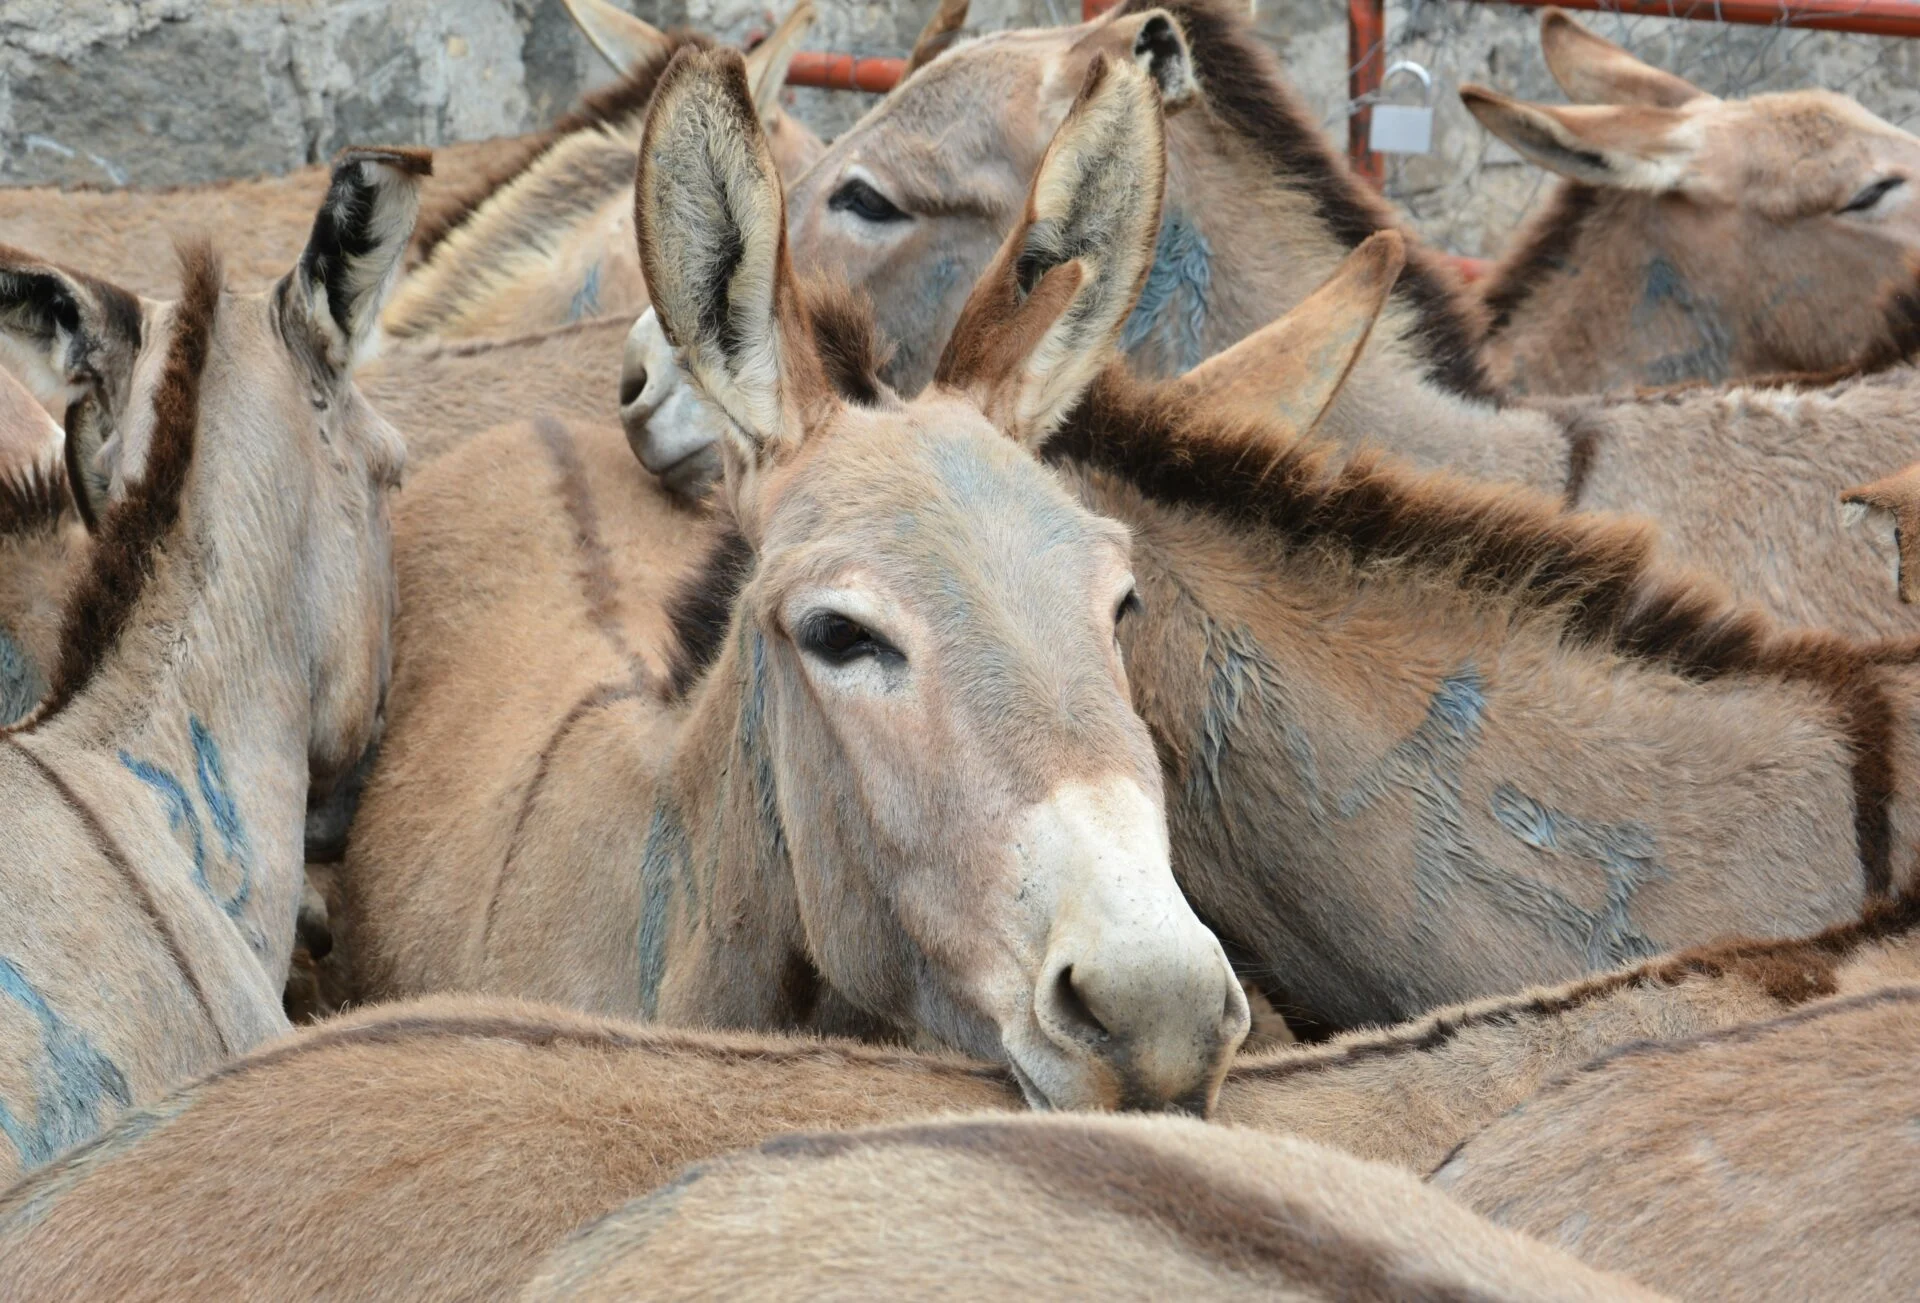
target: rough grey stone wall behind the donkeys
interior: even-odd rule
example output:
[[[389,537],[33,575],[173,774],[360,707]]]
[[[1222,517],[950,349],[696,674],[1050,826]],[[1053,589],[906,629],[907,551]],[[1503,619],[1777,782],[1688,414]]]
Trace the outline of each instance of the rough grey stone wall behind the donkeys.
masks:
[[[768,0],[622,0],[660,27],[743,42]],[[820,0],[808,48],[900,54],[937,0]],[[774,0],[780,6],[781,0]],[[1073,21],[1077,0],[975,0],[970,29]],[[1580,15],[1715,94],[1822,84],[1920,127],[1920,40]],[[1346,140],[1344,0],[1256,0],[1321,125]],[[1386,190],[1438,244],[1492,253],[1546,178],[1459,106],[1465,81],[1559,100],[1536,13],[1390,0],[1388,61],[1436,79],[1434,154],[1392,159]],[[607,77],[559,0],[0,0],[0,184],[184,184],[275,173],[348,142],[442,144],[553,121]],[[1396,100],[1411,100],[1396,83]],[[789,90],[822,134],[872,96]],[[4,240],[4,232],[0,232]]]

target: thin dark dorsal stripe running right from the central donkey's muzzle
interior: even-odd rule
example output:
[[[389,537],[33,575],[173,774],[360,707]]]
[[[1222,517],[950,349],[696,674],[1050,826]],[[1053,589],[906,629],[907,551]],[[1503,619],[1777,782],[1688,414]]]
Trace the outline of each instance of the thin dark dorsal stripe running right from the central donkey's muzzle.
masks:
[[[1281,1080],[1302,1073],[1340,1069],[1361,1059],[1400,1057],[1436,1050],[1478,1027],[1511,1027],[1528,1017],[1569,1013],[1634,986],[1678,986],[1690,977],[1743,977],[1782,1006],[1801,1006],[1839,990],[1839,965],[1855,952],[1920,929],[1920,898],[1872,902],[1851,923],[1837,923],[1812,936],[1780,940],[1720,940],[1636,967],[1607,973],[1549,994],[1484,1002],[1457,1013],[1438,1013],[1402,1031],[1356,1040],[1315,1054],[1275,1054],[1263,1063],[1235,1069],[1240,1080]],[[1367,1036],[1361,1032],[1361,1036]]]

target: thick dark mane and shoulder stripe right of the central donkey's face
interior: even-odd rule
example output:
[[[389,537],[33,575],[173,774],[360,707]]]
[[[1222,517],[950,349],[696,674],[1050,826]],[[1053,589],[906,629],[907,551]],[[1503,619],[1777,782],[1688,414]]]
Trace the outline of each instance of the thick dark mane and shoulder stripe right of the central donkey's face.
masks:
[[[1644,526],[1571,514],[1517,486],[1411,472],[1377,453],[1342,461],[1313,439],[1275,449],[1271,430],[1196,405],[1181,384],[1144,386],[1119,367],[1089,390],[1046,457],[1116,474],[1160,505],[1265,532],[1300,555],[1417,568],[1523,610],[1559,612],[1571,645],[1699,681],[1774,675],[1818,685],[1853,750],[1866,892],[1887,892],[1895,716],[1880,666],[1920,660],[1920,639],[1780,633],[1761,612],[1657,572]]]

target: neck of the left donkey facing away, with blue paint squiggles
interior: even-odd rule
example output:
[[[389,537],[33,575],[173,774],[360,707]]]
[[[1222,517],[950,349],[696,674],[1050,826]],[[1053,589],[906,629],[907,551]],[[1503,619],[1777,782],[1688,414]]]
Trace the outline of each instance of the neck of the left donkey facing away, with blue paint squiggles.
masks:
[[[234,391],[227,367],[215,342],[205,393]],[[275,973],[303,864],[311,670],[292,595],[311,495],[292,441],[240,424],[200,416],[179,518],[150,549],[119,637],[15,737],[56,768],[104,766],[154,802],[196,885]],[[69,629],[63,660],[73,643]]]

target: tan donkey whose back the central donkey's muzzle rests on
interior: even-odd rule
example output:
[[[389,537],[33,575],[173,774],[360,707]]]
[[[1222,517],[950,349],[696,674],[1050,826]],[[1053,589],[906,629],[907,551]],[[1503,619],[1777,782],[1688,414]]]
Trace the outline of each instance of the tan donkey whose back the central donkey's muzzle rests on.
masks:
[[[1242,1057],[1215,1117],[1427,1173],[1619,1046],[1914,981],[1916,923],[1908,906]],[[1002,1065],[493,998],[380,1006],[132,1111],[0,1196],[0,1270],[25,1299],[497,1295],[687,1163],[791,1130],[1020,1107]]]

